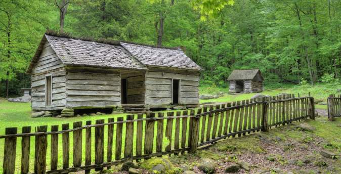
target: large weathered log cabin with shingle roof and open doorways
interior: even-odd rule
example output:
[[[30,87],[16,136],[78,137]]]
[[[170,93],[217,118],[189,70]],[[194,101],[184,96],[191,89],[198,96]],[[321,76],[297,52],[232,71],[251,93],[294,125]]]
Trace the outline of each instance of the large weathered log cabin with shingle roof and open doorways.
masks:
[[[45,33],[26,73],[32,110],[196,107],[200,66],[180,48]]]

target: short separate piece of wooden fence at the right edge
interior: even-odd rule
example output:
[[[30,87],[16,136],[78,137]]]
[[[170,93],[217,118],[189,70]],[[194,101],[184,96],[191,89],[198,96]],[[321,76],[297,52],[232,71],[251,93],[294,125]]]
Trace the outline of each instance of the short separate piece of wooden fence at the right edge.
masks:
[[[333,121],[334,117],[341,117],[341,95],[331,94],[327,99],[328,119]]]

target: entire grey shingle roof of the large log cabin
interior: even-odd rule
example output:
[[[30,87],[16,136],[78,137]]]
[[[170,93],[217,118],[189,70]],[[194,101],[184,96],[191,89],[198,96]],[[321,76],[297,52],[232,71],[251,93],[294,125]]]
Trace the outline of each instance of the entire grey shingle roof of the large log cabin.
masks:
[[[37,62],[42,46],[49,42],[66,66],[91,66],[115,69],[147,70],[146,66],[201,70],[180,49],[138,45],[119,41],[93,41],[67,35],[45,34],[27,69],[30,73]]]

